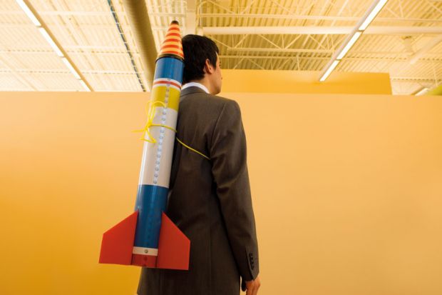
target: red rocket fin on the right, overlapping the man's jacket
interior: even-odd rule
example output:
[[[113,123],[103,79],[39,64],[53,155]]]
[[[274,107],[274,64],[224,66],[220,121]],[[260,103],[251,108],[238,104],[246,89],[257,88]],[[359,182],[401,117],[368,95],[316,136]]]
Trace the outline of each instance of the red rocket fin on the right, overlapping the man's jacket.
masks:
[[[190,240],[164,214],[158,241],[158,269],[189,269]]]

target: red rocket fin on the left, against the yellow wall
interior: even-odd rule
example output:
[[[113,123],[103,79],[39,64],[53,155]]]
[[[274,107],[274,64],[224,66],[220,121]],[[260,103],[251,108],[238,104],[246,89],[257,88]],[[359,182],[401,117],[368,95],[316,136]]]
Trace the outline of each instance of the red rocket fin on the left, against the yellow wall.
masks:
[[[135,211],[103,234],[101,264],[131,264],[137,220],[138,211]]]

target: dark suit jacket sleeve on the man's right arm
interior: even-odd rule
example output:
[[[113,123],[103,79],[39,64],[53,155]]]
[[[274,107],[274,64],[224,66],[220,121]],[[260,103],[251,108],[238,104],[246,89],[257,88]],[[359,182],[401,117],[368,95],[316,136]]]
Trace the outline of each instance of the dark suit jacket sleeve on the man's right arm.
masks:
[[[236,101],[229,100],[222,107],[209,151],[227,236],[242,279],[250,281],[259,273],[258,246],[245,131]]]

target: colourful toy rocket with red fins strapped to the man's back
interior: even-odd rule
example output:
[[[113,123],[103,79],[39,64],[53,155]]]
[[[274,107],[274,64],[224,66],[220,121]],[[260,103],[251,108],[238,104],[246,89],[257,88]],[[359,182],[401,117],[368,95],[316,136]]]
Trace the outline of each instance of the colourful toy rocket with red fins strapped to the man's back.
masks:
[[[188,269],[190,241],[164,213],[183,60],[180,27],[172,21],[155,65],[135,212],[103,234],[100,263]]]

